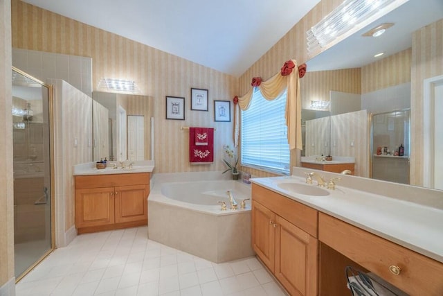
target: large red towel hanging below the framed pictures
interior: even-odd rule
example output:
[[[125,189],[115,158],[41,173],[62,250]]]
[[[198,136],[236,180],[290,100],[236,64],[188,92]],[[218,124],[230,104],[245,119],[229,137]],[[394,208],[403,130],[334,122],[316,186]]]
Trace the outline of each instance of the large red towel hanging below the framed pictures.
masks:
[[[214,162],[214,129],[207,128],[208,145],[199,146],[195,142],[197,128],[189,128],[189,162],[191,164],[210,164]]]

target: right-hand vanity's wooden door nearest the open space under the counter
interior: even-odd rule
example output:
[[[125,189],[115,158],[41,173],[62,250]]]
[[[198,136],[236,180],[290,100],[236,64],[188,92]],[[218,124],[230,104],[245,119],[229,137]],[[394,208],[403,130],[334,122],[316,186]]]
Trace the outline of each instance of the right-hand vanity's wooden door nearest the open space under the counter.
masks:
[[[275,223],[275,277],[291,295],[317,295],[317,239],[280,216]]]

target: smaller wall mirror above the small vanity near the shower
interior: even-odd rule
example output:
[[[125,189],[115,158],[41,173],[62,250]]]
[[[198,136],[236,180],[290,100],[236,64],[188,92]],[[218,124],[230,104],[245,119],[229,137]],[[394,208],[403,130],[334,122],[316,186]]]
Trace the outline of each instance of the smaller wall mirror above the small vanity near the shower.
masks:
[[[93,160],[152,159],[154,99],[93,92]]]

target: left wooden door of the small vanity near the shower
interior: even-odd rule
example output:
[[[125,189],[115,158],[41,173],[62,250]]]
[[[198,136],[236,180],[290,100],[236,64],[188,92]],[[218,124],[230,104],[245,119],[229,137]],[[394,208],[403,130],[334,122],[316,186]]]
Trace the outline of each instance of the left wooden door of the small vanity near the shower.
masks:
[[[114,187],[75,190],[75,227],[114,224]]]

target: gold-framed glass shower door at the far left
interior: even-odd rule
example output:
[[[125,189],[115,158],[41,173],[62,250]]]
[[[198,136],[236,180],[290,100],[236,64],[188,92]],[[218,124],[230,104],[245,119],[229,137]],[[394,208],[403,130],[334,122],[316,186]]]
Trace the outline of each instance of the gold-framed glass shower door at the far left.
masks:
[[[12,69],[15,278],[54,248],[51,87]]]

